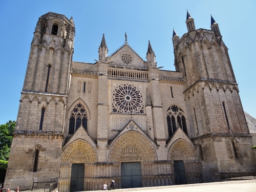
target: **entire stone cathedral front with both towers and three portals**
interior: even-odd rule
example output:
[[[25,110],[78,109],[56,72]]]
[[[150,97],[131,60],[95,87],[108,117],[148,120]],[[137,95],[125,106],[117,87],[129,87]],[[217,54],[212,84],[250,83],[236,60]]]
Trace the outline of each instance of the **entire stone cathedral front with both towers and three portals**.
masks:
[[[49,12],[36,24],[5,187],[58,178],[58,191],[221,180],[255,170],[255,156],[228,49],[218,24],[174,30],[176,71],[127,44],[95,63],[75,62],[73,19]],[[97,50],[95,50],[97,51]]]

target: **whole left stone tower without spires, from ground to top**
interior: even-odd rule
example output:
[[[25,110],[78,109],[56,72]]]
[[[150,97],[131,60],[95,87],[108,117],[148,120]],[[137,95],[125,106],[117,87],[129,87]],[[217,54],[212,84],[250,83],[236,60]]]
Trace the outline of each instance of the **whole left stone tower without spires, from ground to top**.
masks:
[[[23,188],[31,183],[27,178],[50,181],[59,177],[74,36],[72,17],[52,12],[39,17],[19,100],[7,186]],[[27,143],[26,147],[21,143]],[[16,166],[22,168],[16,170]],[[15,174],[22,179],[14,181]]]

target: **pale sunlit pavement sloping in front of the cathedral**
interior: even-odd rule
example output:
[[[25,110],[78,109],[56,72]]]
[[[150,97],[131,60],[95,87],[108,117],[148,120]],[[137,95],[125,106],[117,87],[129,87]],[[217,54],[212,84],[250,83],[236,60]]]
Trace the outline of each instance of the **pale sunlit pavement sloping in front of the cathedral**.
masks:
[[[103,191],[103,190],[93,190]],[[91,192],[93,192],[91,191]],[[256,180],[240,180],[240,181],[224,181],[215,183],[199,183],[199,184],[187,184],[187,185],[170,185],[160,187],[142,187],[142,188],[126,188],[116,189],[115,192],[120,191],[139,191],[139,192],[255,192]]]

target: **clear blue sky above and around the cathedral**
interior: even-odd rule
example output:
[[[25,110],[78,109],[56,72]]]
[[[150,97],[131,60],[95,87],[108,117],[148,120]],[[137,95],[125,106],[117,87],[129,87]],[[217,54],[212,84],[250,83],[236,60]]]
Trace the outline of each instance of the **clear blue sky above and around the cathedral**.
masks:
[[[73,17],[73,61],[94,63],[103,33],[110,55],[123,45],[126,32],[127,42],[144,60],[150,40],[158,67],[175,71],[173,28],[180,37],[187,32],[187,9],[197,29],[210,29],[210,14],[219,24],[244,111],[256,117],[255,0],[0,0],[0,124],[17,118],[30,44],[41,15]]]

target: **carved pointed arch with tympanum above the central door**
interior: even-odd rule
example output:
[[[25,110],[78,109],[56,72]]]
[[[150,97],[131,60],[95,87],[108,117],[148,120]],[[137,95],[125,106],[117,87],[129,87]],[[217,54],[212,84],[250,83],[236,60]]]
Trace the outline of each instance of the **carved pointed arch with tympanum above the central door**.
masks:
[[[110,146],[110,162],[156,161],[153,141],[137,131],[128,131],[119,136]]]

